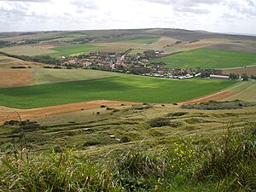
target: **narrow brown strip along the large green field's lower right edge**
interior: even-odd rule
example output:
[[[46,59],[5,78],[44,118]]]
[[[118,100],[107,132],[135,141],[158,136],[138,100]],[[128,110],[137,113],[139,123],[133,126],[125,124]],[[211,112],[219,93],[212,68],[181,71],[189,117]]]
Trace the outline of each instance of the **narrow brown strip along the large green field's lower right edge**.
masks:
[[[229,91],[220,91],[218,93],[210,94],[207,96],[201,96],[199,98],[195,98],[187,102],[180,102],[179,104],[183,105],[183,104],[193,104],[193,103],[200,103],[200,102],[218,101],[234,95],[235,93],[232,93]]]

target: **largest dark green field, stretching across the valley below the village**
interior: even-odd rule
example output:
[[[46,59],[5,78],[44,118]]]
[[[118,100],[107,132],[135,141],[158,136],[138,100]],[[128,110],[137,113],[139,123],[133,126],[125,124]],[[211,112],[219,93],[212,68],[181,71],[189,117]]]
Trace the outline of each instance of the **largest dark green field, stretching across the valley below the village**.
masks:
[[[0,105],[12,108],[40,108],[102,99],[127,102],[182,102],[222,90],[231,84],[235,82],[218,79],[154,79],[127,75],[3,88],[0,89]]]

